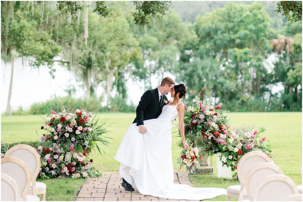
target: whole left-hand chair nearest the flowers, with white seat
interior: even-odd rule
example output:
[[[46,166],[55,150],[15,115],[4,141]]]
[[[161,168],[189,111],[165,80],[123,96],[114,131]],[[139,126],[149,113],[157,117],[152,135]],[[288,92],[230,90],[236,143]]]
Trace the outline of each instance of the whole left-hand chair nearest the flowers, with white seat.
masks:
[[[42,201],[45,201],[46,184],[36,182],[41,167],[41,159],[38,152],[29,145],[18,144],[8,149],[8,151],[5,153],[5,157],[15,157],[26,163],[32,174],[32,181],[28,194],[34,196],[37,196],[37,194],[42,194]]]

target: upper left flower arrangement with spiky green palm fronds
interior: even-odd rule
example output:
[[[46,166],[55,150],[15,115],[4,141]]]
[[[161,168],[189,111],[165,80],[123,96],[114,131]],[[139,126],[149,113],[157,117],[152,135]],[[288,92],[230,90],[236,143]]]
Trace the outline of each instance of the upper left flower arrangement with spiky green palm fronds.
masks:
[[[62,107],[62,112],[58,114],[52,111],[51,119],[46,120],[42,126],[42,130],[46,130],[48,134],[43,134],[43,141],[50,141],[56,144],[71,144],[75,145],[75,150],[87,152],[96,147],[101,154],[97,142],[108,147],[108,141],[104,136],[108,130],[105,129],[105,123],[99,123],[98,119],[93,117],[94,112],[86,112],[77,109],[75,113],[68,113],[65,107]],[[112,138],[110,138],[112,139]],[[101,154],[102,155],[102,154]]]

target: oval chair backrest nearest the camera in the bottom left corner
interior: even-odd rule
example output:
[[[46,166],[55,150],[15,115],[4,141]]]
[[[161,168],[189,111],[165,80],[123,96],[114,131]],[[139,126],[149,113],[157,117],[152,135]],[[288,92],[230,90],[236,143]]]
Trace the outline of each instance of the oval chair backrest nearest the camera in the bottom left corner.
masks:
[[[9,175],[1,173],[1,201],[16,201],[21,199],[17,182]]]

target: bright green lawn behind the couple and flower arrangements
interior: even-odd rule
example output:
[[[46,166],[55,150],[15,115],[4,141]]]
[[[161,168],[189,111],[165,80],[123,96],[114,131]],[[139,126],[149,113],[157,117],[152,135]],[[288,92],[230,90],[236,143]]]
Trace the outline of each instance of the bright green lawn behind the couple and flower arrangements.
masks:
[[[129,125],[135,118],[134,113],[101,113],[98,114],[101,120],[107,121],[110,125],[108,129],[112,131],[108,135],[111,144],[104,148],[105,154],[101,156],[97,152],[92,152],[90,158],[94,159],[96,168],[101,171],[118,171],[119,162],[113,158],[120,145],[120,142],[128,129]],[[273,113],[230,113],[230,123],[236,127],[243,123],[254,125],[256,128],[266,128],[262,136],[267,136],[268,144],[274,154],[274,162],[285,175],[288,175],[297,185],[302,184],[300,175],[300,165],[302,162],[302,113],[301,112],[273,112]],[[31,141],[41,137],[43,125],[42,118],[35,115],[28,116],[1,116],[1,141],[12,143],[18,141]],[[173,128],[173,131],[176,131]],[[38,132],[38,136],[36,132]],[[174,136],[176,133],[173,133]],[[173,138],[172,155],[174,170],[179,171],[179,165],[176,159],[179,157],[180,149],[175,145],[178,138]],[[216,172],[216,156],[212,157],[212,165]],[[185,168],[181,169],[185,172]],[[218,179],[216,175],[191,175],[191,180],[195,187],[221,187],[227,188],[233,184],[239,184],[234,178],[225,180]],[[56,180],[54,181],[55,184]],[[52,186],[51,184],[49,186]],[[56,196],[54,196],[56,197]],[[48,200],[56,200],[48,198]],[[58,200],[58,199],[57,199]],[[226,196],[215,197],[211,200],[226,200]]]

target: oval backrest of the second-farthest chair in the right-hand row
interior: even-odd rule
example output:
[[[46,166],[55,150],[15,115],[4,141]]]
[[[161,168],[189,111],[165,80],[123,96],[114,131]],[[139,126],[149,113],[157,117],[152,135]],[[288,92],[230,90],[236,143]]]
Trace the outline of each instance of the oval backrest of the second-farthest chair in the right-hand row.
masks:
[[[271,163],[260,163],[251,168],[245,178],[245,190],[249,200],[253,200],[253,195],[258,184],[264,178],[275,174],[283,175],[283,172],[278,166]]]

